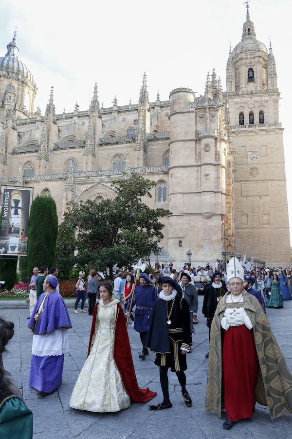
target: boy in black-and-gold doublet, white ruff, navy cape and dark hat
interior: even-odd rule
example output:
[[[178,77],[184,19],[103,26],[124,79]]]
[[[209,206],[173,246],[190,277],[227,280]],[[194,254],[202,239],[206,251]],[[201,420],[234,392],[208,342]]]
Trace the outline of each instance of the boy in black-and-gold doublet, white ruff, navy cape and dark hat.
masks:
[[[182,387],[185,405],[191,406],[192,400],[185,388],[187,369],[186,352],[192,345],[190,329],[190,310],[185,299],[176,291],[176,282],[168,276],[158,279],[163,290],[160,299],[154,304],[146,337],[146,346],[156,352],[155,364],[159,366],[161,388],[164,396],[162,403],[150,405],[150,410],[162,410],[172,407],[168,392],[168,367],[175,372]]]

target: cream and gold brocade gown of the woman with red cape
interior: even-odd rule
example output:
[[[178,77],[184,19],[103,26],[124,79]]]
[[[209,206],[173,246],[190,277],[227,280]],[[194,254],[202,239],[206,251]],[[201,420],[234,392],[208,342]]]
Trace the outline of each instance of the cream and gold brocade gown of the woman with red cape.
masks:
[[[80,372],[70,399],[70,407],[89,412],[119,412],[130,405],[113,357],[114,329],[119,300],[104,305],[96,316],[96,331],[88,359]]]

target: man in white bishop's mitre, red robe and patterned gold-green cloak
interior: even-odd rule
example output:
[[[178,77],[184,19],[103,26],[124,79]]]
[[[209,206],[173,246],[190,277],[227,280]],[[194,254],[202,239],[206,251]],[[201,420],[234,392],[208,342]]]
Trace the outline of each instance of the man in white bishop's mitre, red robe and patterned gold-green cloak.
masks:
[[[292,413],[292,375],[258,300],[243,289],[237,258],[227,266],[229,291],[220,299],[211,325],[206,410],[230,430],[252,418],[256,402],[271,419]]]

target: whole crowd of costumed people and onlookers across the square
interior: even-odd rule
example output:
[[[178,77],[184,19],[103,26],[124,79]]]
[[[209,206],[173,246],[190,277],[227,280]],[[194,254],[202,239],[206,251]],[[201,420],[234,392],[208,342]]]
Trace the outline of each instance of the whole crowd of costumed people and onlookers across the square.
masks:
[[[78,313],[80,301],[85,312],[88,298],[92,320],[88,356],[70,406],[116,412],[131,402],[148,402],[156,396],[149,388],[140,388],[136,379],[127,331],[132,319],[141,339],[139,359],[145,360],[153,352],[159,367],[163,400],[149,405],[149,410],[172,407],[169,368],[176,373],[183,401],[190,407],[185,370],[194,324],[198,323],[199,277],[203,280],[202,313],[209,328],[206,410],[221,416],[225,409],[226,430],[240,419],[252,418],[256,401],[268,406],[271,419],[292,413],[292,376],[265,309],[281,308],[284,300],[292,299],[291,272],[246,267],[237,258],[229,261],[226,270],[220,260],[215,270],[210,264],[196,268],[185,263],[179,271],[171,265],[169,274],[161,267],[149,275],[137,271],[136,277],[132,267],[116,269],[112,281],[101,279],[92,269],[87,284],[84,271],[79,272],[74,313]],[[57,274],[56,267],[35,267],[30,281],[28,327],[33,342],[29,385],[40,397],[62,383],[68,330],[74,324],[59,294]]]

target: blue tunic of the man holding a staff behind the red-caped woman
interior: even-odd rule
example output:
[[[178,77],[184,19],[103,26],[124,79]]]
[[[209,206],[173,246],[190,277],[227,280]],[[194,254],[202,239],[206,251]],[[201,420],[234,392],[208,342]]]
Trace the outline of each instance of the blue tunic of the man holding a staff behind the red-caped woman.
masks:
[[[139,285],[135,289],[135,297],[133,305],[136,305],[134,329],[138,332],[147,332],[153,305],[158,299],[157,289],[151,285]],[[128,303],[127,311],[129,311],[130,303]],[[146,308],[146,309],[145,309]]]

